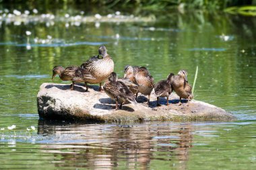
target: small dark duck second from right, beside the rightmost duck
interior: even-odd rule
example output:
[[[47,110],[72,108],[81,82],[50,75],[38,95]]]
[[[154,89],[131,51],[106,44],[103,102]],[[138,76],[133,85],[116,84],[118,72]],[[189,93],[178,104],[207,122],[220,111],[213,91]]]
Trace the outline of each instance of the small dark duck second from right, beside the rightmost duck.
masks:
[[[167,97],[166,105],[169,104],[169,96],[172,93],[172,77],[174,76],[173,73],[170,73],[166,80],[161,80],[154,86],[155,95],[156,95],[156,105],[160,106],[158,102],[159,97]]]

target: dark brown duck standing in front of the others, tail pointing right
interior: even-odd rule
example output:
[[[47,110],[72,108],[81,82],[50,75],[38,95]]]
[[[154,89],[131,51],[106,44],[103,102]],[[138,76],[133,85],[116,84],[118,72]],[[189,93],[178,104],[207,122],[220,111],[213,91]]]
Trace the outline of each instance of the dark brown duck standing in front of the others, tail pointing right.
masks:
[[[117,74],[115,72],[111,73],[108,77],[108,82],[103,86],[106,94],[116,101],[116,110],[122,108],[123,103],[130,101],[131,103],[137,103],[133,92],[121,81],[117,81]],[[120,106],[118,107],[118,104]]]

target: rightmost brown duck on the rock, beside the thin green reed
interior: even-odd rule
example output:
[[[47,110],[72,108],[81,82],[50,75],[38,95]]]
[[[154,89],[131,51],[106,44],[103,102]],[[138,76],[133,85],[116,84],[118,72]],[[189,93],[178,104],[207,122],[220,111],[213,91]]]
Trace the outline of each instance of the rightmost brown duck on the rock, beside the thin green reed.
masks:
[[[193,99],[193,94],[192,87],[187,81],[187,71],[181,70],[178,75],[174,75],[172,79],[172,87],[180,97],[179,105],[181,105],[181,98],[188,99],[187,105],[189,105],[189,99]]]

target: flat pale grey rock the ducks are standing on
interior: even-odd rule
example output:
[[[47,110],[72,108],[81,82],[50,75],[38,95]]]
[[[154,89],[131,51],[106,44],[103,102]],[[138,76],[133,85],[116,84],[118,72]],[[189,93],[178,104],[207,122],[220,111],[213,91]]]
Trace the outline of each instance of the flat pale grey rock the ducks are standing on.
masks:
[[[43,83],[37,95],[40,118],[51,120],[75,120],[85,122],[142,122],[142,121],[232,121],[236,118],[202,101],[192,100],[187,105],[177,105],[179,97],[172,93],[166,106],[165,98],[160,99],[162,106],[156,107],[156,97],[152,92],[150,107],[146,97],[140,95],[139,103],[123,105],[122,110],[115,110],[115,101],[106,93],[99,92],[98,86],[92,85],[89,92],[82,84],[70,90],[70,84]]]

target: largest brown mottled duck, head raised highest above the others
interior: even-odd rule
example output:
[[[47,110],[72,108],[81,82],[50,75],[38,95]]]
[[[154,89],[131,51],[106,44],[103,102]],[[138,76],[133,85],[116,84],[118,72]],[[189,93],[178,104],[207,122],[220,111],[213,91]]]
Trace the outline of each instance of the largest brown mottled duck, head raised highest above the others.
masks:
[[[102,56],[102,58],[100,58]],[[84,62],[81,67],[86,69],[92,77],[95,79],[86,79],[86,87],[88,89],[87,83],[97,84],[100,83],[100,89],[102,90],[102,83],[108,79],[110,73],[114,71],[114,62],[110,55],[106,52],[105,46],[100,46],[98,48],[98,56],[93,56],[86,62]]]

